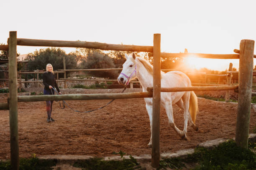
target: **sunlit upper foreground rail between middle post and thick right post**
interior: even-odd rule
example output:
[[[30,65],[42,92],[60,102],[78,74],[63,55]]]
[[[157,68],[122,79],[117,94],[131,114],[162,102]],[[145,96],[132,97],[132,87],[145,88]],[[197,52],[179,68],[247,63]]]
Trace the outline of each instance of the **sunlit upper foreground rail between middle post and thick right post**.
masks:
[[[153,56],[153,53],[149,53],[148,56]],[[202,53],[167,53],[161,52],[162,58],[184,58],[184,57],[200,57],[200,58],[212,58],[212,59],[239,59],[239,54],[202,54]]]

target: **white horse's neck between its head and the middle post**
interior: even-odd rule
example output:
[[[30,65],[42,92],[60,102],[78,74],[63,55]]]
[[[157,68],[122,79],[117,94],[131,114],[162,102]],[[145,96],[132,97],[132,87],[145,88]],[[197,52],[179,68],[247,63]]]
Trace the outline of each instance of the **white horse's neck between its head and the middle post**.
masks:
[[[153,76],[142,64],[138,67],[137,78],[141,83],[143,91],[146,91],[147,87],[153,87]]]

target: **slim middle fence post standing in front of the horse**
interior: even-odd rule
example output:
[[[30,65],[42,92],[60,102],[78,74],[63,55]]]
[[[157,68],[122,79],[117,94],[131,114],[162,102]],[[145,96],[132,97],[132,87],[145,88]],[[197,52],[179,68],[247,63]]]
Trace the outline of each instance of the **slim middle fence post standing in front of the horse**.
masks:
[[[160,163],[160,100],[161,100],[161,34],[154,34],[153,47],[153,117],[152,117],[152,167]]]

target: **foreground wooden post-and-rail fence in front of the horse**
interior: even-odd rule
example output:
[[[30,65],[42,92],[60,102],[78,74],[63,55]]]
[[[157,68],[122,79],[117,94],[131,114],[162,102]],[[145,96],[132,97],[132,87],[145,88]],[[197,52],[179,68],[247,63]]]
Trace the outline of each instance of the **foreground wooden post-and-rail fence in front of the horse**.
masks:
[[[160,52],[161,35],[154,34],[154,46],[136,46],[136,45],[113,45],[99,42],[77,42],[77,41],[57,41],[57,40],[31,40],[31,39],[17,39],[17,32],[10,32],[8,39],[9,44],[9,112],[10,112],[10,150],[11,150],[11,166],[12,169],[18,170],[19,168],[19,147],[18,147],[18,102],[20,101],[41,101],[41,100],[90,100],[90,99],[106,99],[106,98],[130,98],[133,97],[153,97],[153,126],[152,126],[152,166],[154,168],[159,166],[160,149],[159,149],[159,114],[160,114],[160,56],[168,55],[168,53]],[[97,48],[102,50],[122,50],[122,51],[144,51],[153,52],[154,67],[153,67],[153,92],[144,93],[131,93],[126,94],[97,94],[97,95],[45,95],[45,96],[17,96],[17,45],[28,46],[51,46],[51,47],[86,47]],[[240,55],[202,55],[202,57],[210,58],[223,58],[229,59],[230,57],[239,58],[239,85],[238,85],[238,118],[236,125],[236,144],[243,148],[248,147],[248,127],[251,111],[251,89],[252,89],[252,70],[253,70],[253,40],[241,40]],[[181,54],[183,55],[183,54]],[[194,87],[195,88],[195,87]],[[197,90],[202,90],[202,87],[197,87]],[[201,89],[200,89],[201,88]],[[225,87],[203,87],[204,90],[218,88],[218,90],[234,90],[234,86]],[[236,86],[237,88],[237,86]],[[170,89],[167,89],[167,91]],[[177,91],[191,91],[196,90],[192,87],[183,89],[176,88]],[[104,96],[104,97],[103,97]],[[24,99],[26,98],[26,100]],[[23,100],[22,100],[23,99]],[[0,106],[5,107],[3,103]],[[3,109],[3,107],[1,109]]]

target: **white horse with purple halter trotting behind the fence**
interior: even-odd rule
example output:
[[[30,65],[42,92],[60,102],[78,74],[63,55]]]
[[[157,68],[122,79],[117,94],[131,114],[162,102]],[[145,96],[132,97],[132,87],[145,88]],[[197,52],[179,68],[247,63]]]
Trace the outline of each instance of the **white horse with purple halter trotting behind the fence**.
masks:
[[[126,61],[123,64],[123,70],[118,76],[120,85],[128,85],[128,83],[138,78],[141,83],[143,92],[146,92],[147,87],[153,87],[153,66],[141,57],[136,57],[133,53],[131,56],[125,54]],[[191,81],[189,77],[180,71],[171,71],[164,73],[161,71],[161,87],[189,87]],[[150,120],[151,138],[148,146],[152,145],[152,98],[144,98],[146,102],[146,110]],[[179,130],[174,124],[172,104],[176,103],[178,107],[184,110],[184,130]],[[194,92],[161,92],[161,104],[166,110],[169,119],[169,125],[177,132],[177,134],[189,140],[187,137],[187,121],[194,130],[198,130],[195,125],[196,115],[198,112],[197,96]],[[189,114],[190,113],[190,114]]]

